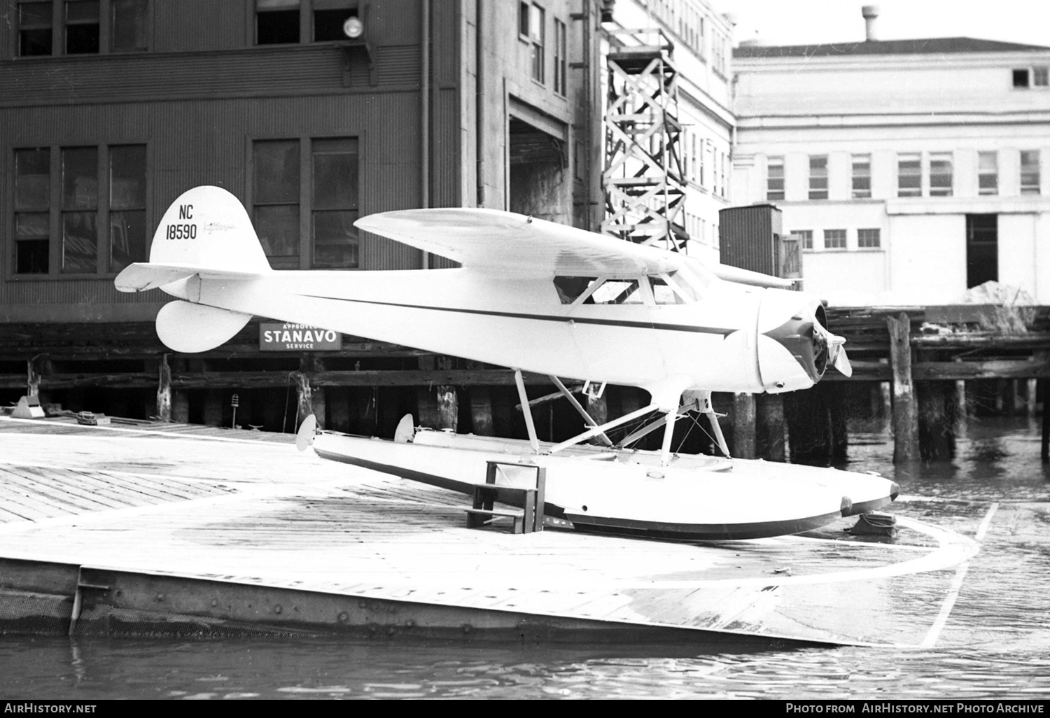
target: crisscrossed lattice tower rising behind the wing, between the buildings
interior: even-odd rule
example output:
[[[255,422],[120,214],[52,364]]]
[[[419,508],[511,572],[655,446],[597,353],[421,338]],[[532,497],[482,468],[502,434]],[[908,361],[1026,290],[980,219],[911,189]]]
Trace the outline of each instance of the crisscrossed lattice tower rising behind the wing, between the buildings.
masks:
[[[640,245],[685,248],[685,173],[673,45],[658,29],[618,30],[656,44],[609,51],[602,231]],[[613,38],[611,37],[610,40]]]

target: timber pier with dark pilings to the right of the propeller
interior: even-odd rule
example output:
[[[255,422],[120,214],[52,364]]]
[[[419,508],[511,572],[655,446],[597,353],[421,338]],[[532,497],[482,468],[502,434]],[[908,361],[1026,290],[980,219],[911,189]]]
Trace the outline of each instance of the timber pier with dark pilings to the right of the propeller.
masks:
[[[956,427],[974,411],[1035,416],[1050,377],[1050,310],[960,304],[830,308],[846,339],[846,378],[828,371],[813,389],[788,395],[792,456],[844,458],[850,409],[882,416],[895,461],[949,459]],[[1043,410],[1043,457],[1050,427]]]

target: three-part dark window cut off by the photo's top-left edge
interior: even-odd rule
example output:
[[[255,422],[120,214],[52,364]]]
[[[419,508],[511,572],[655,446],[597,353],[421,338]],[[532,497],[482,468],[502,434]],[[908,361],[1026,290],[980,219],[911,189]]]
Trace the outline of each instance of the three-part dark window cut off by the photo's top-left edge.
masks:
[[[20,57],[145,50],[148,0],[21,0]]]

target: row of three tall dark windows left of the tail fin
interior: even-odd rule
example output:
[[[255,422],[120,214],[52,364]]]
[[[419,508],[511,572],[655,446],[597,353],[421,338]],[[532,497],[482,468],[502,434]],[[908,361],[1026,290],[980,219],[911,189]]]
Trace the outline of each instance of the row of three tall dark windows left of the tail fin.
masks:
[[[146,254],[145,145],[15,150],[16,274],[117,272]]]

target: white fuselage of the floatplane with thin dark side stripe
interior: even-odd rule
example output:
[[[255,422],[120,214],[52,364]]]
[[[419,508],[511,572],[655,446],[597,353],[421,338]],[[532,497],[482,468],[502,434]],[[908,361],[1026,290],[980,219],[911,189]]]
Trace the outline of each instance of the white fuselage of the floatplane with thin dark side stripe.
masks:
[[[655,303],[651,294],[636,303],[565,303],[551,277],[476,269],[284,271],[251,280],[192,277],[164,290],[234,312],[561,377],[650,390],[664,381],[784,389],[763,382],[758,352],[769,342],[759,335],[761,304],[778,291],[732,282],[712,282],[701,301],[690,303]]]

